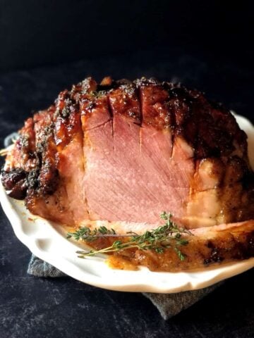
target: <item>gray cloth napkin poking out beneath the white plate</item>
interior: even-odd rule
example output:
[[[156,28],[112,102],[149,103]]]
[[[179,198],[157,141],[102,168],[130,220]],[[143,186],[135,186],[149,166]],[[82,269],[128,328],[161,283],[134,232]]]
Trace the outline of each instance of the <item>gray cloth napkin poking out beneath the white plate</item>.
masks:
[[[65,276],[64,273],[56,269],[53,265],[42,261],[34,255],[31,256],[28,265],[28,273],[29,275],[36,277]],[[207,294],[210,294],[210,292],[216,289],[220,284],[222,283],[214,284],[211,287],[206,287],[205,289],[178,292],[176,294],[152,294],[144,292],[143,295],[152,301],[152,303],[157,307],[159,313],[162,315],[162,318],[167,320],[186,308],[189,308],[197,301],[200,301],[200,299],[205,297]]]

